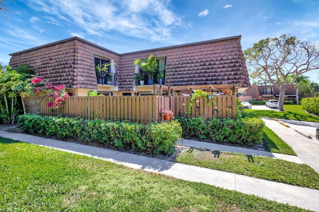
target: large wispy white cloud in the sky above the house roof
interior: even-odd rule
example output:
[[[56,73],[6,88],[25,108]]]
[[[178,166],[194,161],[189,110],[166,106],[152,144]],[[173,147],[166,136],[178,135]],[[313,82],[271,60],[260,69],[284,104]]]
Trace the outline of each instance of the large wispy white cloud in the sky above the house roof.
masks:
[[[169,1],[29,0],[28,3],[54,16],[56,20],[49,23],[77,25],[86,33],[99,36],[114,31],[151,41],[167,41],[172,29],[183,27],[181,17],[169,9]]]

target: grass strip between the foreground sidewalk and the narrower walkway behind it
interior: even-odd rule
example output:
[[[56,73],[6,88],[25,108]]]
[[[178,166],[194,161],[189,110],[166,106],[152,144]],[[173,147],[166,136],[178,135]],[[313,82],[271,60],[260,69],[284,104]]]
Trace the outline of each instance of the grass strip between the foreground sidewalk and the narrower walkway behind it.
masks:
[[[217,150],[203,151],[193,148],[179,155],[176,161],[300,187],[319,189],[319,174],[306,164],[263,156]]]

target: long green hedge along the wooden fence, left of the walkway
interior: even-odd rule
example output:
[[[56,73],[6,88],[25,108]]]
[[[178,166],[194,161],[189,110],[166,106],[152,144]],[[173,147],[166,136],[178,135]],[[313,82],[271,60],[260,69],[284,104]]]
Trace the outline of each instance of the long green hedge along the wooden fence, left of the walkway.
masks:
[[[181,127],[176,121],[141,125],[26,114],[18,117],[18,124],[27,133],[100,142],[118,149],[129,147],[151,154],[173,153],[176,141],[181,138]]]

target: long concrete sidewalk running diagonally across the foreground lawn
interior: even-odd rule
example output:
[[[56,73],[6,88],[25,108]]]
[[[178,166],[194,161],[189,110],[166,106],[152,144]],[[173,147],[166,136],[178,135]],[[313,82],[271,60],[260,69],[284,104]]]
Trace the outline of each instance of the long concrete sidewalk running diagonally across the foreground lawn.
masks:
[[[44,145],[60,149],[62,151],[84,154],[123,164],[135,169],[161,173],[188,181],[203,182],[245,194],[253,194],[280,203],[288,203],[292,206],[319,211],[319,190],[301,188],[228,172],[174,163],[137,154],[130,154],[72,142],[57,141],[26,134],[0,131],[0,136],[17,141]],[[185,143],[183,143],[183,145],[185,145]],[[207,148],[211,148],[211,146]]]

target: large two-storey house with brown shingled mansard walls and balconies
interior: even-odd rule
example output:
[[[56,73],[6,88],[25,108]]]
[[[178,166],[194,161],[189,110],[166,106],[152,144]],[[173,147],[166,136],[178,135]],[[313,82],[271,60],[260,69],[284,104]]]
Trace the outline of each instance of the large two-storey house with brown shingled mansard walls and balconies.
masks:
[[[86,96],[88,90],[116,96],[141,95],[154,93],[154,89],[147,81],[149,76],[134,65],[134,61],[153,54],[161,67],[152,76],[155,83],[212,84],[222,91],[235,85],[250,86],[240,40],[241,36],[234,36],[118,54],[72,37],[9,54],[9,64],[11,67],[28,64],[36,75],[52,84],[65,85],[73,96]],[[104,64],[109,64],[106,71],[96,70],[97,65]],[[140,78],[145,79],[143,85]]]

